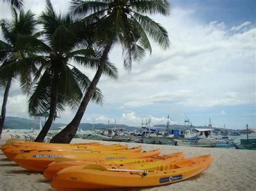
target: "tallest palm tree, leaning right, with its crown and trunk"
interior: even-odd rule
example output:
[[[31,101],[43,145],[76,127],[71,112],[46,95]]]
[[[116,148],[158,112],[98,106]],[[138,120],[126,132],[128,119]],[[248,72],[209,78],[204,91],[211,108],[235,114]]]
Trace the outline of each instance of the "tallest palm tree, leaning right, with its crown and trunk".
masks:
[[[73,1],[71,11],[88,23],[95,23],[97,44],[102,46],[100,65],[73,120],[52,138],[52,143],[69,143],[84,115],[87,104],[99,82],[111,48],[123,48],[124,68],[130,72],[132,60],[141,61],[152,48],[148,36],[162,48],[169,47],[167,31],[146,14],[169,15],[166,0],[85,0]]]

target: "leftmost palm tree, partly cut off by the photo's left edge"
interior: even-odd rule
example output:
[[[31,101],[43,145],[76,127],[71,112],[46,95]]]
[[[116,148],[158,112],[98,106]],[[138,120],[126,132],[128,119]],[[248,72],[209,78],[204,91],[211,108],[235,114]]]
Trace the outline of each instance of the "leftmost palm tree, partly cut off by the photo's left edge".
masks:
[[[23,93],[29,93],[31,77],[37,68],[33,62],[28,61],[28,53],[31,52],[25,43],[20,43],[19,35],[31,36],[35,32],[35,15],[28,12],[19,12],[12,9],[11,20],[0,20],[5,41],[0,40],[0,87],[4,89],[4,98],[0,118],[0,136],[2,133],[6,104],[8,100],[11,82],[19,78]]]

